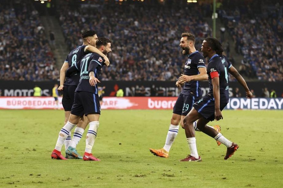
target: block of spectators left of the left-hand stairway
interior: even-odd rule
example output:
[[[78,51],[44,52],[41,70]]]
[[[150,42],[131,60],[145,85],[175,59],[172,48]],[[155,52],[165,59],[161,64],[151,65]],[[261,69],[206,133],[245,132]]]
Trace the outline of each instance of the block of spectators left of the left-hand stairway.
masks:
[[[54,80],[59,71],[32,3],[1,1],[0,79]]]

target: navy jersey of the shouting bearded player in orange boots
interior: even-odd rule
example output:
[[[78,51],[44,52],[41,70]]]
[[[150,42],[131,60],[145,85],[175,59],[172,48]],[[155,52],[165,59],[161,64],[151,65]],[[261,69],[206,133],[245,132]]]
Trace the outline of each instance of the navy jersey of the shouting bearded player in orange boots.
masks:
[[[184,74],[188,76],[198,75],[199,67],[205,67],[205,59],[200,52],[195,51],[188,56],[188,59],[185,63]],[[196,97],[202,96],[199,81],[186,82],[181,93],[184,95],[192,95]]]

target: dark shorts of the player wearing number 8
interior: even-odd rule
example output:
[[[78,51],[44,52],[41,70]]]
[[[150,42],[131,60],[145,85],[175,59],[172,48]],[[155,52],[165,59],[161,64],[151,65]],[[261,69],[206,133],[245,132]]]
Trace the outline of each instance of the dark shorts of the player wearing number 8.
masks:
[[[63,87],[62,105],[65,111],[71,111],[72,109],[76,88],[77,86],[64,85]]]

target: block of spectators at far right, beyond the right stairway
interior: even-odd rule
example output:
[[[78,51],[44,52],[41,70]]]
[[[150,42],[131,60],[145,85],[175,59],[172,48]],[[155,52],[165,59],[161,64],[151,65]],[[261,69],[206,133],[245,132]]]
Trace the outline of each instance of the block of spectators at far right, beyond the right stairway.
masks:
[[[283,81],[280,6],[280,1],[223,1],[219,13],[233,37],[236,52],[243,56],[241,74],[258,80]]]

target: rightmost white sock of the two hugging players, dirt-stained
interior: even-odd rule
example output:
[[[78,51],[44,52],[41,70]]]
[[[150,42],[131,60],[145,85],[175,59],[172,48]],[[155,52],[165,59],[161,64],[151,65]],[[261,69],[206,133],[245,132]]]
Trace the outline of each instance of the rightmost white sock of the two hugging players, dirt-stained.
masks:
[[[86,150],[85,150],[85,152],[87,152],[87,153],[91,153],[93,144],[94,144],[95,139],[96,139],[98,126],[99,126],[99,121],[90,122],[90,128],[88,129],[87,134],[86,134]]]

